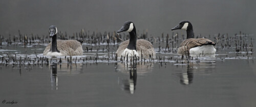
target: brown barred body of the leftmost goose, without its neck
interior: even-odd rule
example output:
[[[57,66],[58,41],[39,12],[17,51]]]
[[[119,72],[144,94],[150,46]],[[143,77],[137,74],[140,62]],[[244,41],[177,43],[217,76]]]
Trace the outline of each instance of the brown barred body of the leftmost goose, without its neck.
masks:
[[[60,56],[81,56],[82,55],[82,42],[77,40],[57,40],[57,48]],[[44,51],[44,56],[47,56],[50,53],[52,43],[49,43],[46,46]]]

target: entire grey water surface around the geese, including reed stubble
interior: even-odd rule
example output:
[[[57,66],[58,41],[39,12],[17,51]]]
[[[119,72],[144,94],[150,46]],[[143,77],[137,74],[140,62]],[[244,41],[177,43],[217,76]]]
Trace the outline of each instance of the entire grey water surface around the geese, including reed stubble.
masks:
[[[70,62],[69,56],[42,56],[47,43],[26,48],[3,43],[0,98],[17,101],[12,106],[256,105],[253,47],[237,52],[235,42],[229,42],[231,47],[218,44],[216,55],[187,59],[175,48],[165,51],[166,43],[161,41],[155,43],[160,46],[155,47],[157,58],[137,62],[116,61],[117,44],[110,50],[103,49],[106,44],[83,44],[92,50]]]

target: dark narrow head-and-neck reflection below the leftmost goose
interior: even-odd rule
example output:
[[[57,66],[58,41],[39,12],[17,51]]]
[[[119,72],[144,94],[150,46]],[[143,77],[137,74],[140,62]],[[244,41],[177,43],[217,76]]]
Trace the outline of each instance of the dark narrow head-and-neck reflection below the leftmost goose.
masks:
[[[51,78],[50,78],[51,89],[58,90],[57,63],[53,63],[51,66],[52,66],[52,72],[51,72]]]

